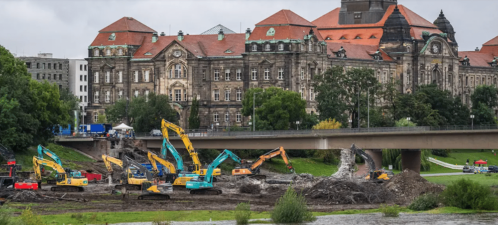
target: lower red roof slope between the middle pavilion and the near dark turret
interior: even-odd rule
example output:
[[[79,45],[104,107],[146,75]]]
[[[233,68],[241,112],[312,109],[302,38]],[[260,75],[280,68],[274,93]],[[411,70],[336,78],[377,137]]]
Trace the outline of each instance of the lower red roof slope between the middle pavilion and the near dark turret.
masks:
[[[362,44],[351,44],[351,43],[327,43],[327,54],[330,58],[337,58],[334,52],[339,51],[343,47],[346,50],[346,56],[348,59],[364,59],[373,60],[372,56],[377,50],[377,45],[362,45]],[[385,52],[382,52],[383,61],[394,61]]]

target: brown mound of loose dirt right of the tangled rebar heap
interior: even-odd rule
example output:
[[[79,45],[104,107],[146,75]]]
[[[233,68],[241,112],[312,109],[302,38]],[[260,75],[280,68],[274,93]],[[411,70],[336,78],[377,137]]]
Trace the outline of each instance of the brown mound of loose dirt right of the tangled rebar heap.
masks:
[[[400,203],[409,203],[425,193],[439,193],[444,190],[444,185],[431,183],[410,169],[394,175],[383,186],[390,190]]]

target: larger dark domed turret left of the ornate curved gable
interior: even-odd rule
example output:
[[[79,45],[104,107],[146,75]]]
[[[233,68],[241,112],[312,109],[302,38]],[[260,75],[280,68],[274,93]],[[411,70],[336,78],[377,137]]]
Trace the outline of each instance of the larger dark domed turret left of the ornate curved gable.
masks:
[[[397,5],[385,20],[382,30],[383,33],[380,42],[411,41],[410,25],[401,12],[399,12]]]

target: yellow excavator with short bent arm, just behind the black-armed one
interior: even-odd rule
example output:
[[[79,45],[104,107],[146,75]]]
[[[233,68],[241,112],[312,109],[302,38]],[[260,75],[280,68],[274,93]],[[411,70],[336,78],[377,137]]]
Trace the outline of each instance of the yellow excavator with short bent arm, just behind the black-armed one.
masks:
[[[106,164],[106,168],[110,174],[114,173],[111,163],[114,163],[124,169],[123,160],[121,159],[117,159],[105,154],[102,155],[102,159],[104,160],[104,164]],[[147,169],[145,168],[145,170]],[[140,190],[141,185],[144,181],[152,180],[152,178],[148,179],[146,176],[141,176],[140,172],[143,173],[143,171],[138,171],[138,169],[134,167],[127,167],[127,169],[123,171],[127,171],[127,173],[123,172],[121,174],[122,184],[117,184],[116,186],[114,186],[115,189],[122,189],[123,187],[126,187],[126,189],[128,190]]]

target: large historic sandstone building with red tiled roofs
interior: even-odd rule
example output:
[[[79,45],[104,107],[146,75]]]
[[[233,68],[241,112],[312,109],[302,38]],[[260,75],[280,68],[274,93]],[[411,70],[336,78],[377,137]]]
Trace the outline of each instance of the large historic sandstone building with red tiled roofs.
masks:
[[[437,83],[465,104],[476,85],[497,85],[498,37],[479,51],[459,52],[442,11],[429,22],[396,0],[341,4],[311,22],[280,10],[242,34],[218,25],[217,34],[212,28],[166,36],[123,17],[100,30],[88,48],[86,119],[96,121],[120,99],[156,93],[170,97],[184,128],[194,98],[201,128],[248,126],[249,118],[241,115],[246,90],[298,92],[312,112],[313,76],[333,65],[371,68],[380,83],[399,80],[404,94]]]

